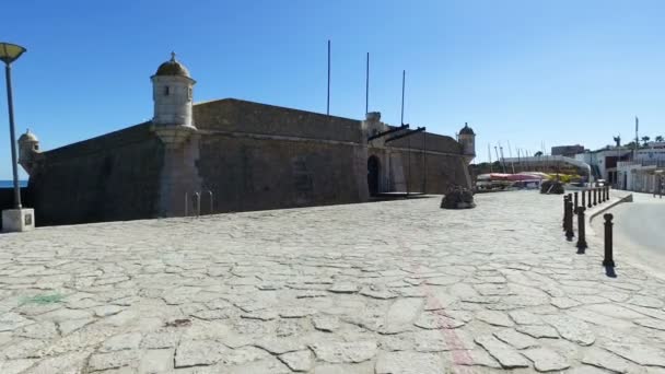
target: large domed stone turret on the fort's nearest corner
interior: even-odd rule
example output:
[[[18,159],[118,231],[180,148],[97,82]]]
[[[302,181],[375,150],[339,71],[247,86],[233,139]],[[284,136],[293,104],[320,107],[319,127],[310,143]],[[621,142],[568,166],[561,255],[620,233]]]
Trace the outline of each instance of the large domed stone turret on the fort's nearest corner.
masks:
[[[196,127],[191,120],[192,87],[196,81],[171,54],[171,60],[160,65],[152,80],[154,101],[153,130],[167,148],[177,148]]]

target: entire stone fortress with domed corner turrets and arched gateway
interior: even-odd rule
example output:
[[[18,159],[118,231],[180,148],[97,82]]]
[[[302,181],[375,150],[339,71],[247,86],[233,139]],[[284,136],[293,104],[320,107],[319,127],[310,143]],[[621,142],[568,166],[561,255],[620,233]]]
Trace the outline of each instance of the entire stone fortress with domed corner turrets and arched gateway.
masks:
[[[38,225],[369,201],[470,187],[475,133],[393,127],[247,101],[194,104],[175,54],[151,77],[154,117],[43,152],[30,130],[19,163]],[[362,208],[359,208],[362,209]]]

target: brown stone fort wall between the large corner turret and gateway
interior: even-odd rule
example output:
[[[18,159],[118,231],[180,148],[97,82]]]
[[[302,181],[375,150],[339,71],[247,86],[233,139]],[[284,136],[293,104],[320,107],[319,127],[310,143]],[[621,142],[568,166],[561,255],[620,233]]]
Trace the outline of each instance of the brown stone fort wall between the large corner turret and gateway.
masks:
[[[358,120],[237,100],[195,105],[194,116],[218,212],[368,200]]]

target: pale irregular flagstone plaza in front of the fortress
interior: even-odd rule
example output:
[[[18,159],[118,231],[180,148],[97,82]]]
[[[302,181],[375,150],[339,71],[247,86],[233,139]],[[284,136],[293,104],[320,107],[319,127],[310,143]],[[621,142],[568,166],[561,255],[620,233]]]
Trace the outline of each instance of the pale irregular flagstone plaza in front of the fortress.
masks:
[[[665,373],[665,282],[561,196],[0,235],[0,373]]]

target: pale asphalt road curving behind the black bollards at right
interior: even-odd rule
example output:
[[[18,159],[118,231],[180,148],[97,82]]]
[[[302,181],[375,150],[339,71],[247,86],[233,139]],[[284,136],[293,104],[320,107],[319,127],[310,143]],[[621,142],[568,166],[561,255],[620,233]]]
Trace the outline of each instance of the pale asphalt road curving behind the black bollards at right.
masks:
[[[633,194],[633,202],[621,203],[611,213],[615,252],[665,273],[665,197]],[[603,222],[600,217],[594,220],[594,230],[600,235]]]

